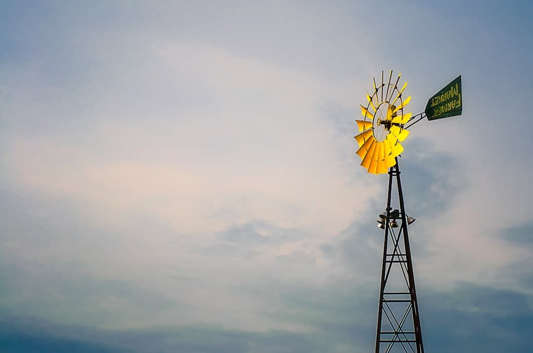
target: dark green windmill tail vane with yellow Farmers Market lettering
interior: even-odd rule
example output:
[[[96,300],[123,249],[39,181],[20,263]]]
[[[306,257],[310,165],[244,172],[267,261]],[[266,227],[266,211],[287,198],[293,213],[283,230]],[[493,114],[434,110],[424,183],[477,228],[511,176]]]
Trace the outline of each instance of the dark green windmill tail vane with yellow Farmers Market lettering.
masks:
[[[425,113],[427,120],[437,120],[463,113],[461,75],[427,101]]]

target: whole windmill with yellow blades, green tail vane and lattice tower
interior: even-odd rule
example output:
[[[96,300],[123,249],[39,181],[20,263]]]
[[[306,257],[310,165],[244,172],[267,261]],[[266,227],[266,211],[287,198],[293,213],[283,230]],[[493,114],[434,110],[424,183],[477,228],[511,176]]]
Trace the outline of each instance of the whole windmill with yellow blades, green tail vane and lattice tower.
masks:
[[[406,214],[401,188],[398,157],[403,152],[403,142],[409,127],[427,117],[437,120],[461,115],[463,111],[461,76],[429,99],[425,111],[412,116],[404,112],[411,97],[403,99],[407,82],[398,87],[401,74],[388,81],[381,72],[381,84],[374,78],[374,93],[367,93],[366,106],[361,105],[364,120],[356,120],[359,134],[357,155],[361,166],[372,174],[389,174],[389,188],[385,212],[379,215],[378,228],[385,231],[381,287],[376,329],[376,353],[393,350],[424,353],[418,302],[416,298],[413,262],[409,246],[408,225],[415,218]],[[398,196],[399,209],[391,207],[391,196]],[[399,221],[399,223],[398,223]]]

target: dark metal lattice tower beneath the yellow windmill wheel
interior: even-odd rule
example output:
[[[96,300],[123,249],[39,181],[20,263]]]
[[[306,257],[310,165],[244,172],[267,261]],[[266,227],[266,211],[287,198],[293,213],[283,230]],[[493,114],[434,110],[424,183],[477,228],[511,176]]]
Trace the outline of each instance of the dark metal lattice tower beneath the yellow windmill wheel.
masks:
[[[393,211],[391,195],[394,179],[400,209]],[[375,353],[424,353],[398,161],[389,170],[386,215]],[[396,228],[397,232],[391,225],[396,220],[401,223]]]

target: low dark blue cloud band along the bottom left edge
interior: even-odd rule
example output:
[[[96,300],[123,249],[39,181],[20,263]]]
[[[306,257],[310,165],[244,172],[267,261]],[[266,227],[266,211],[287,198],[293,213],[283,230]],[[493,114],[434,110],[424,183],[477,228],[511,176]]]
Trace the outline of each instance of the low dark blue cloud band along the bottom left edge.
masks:
[[[0,342],[6,352],[38,349],[63,352],[320,352],[328,347],[312,335],[282,331],[224,330],[210,325],[96,331],[20,317],[2,317]],[[10,322],[8,322],[8,320]],[[337,350],[332,350],[336,352]]]

